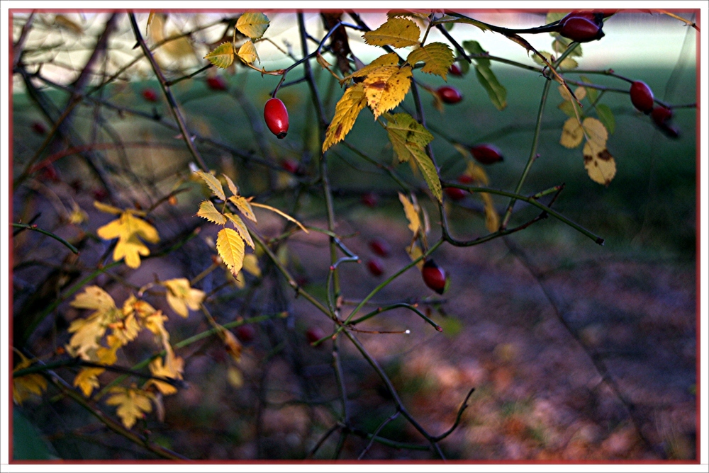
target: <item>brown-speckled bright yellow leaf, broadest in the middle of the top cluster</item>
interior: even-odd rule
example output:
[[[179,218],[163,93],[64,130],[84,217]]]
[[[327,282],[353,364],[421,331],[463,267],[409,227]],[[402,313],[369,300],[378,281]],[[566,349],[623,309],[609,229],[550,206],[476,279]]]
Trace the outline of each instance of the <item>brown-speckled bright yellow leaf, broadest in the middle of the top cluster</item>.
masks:
[[[367,75],[363,84],[367,105],[376,120],[403,101],[411,87],[411,67],[379,67]]]

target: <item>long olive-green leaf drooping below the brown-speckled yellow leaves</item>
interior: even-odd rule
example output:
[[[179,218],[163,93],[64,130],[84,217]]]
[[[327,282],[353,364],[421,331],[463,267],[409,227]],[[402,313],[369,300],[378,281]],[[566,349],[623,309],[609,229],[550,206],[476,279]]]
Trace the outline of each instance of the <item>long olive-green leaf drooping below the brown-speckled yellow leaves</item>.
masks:
[[[386,131],[399,161],[415,162],[433,196],[442,202],[443,193],[438,171],[425,152],[425,146],[431,142],[433,135],[408,113],[387,115]]]

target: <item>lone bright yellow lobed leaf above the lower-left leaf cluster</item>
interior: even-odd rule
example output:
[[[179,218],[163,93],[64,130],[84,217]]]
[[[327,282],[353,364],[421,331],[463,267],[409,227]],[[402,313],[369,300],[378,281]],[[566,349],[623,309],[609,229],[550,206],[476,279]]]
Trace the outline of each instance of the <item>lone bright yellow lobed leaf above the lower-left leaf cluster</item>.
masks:
[[[133,216],[133,212],[130,211],[123,212],[117,220],[96,230],[96,234],[104,240],[118,238],[116,249],[113,250],[113,261],[121,261],[125,258],[125,264],[130,268],[138,268],[140,256],[150,254],[150,249],[141,239],[150,243],[160,241],[155,227]]]

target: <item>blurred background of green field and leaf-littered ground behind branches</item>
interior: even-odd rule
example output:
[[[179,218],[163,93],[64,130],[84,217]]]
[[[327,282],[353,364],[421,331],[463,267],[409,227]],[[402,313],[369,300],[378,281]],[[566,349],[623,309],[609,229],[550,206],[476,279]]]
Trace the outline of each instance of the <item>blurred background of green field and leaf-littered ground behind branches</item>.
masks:
[[[677,13],[693,20],[691,13]],[[508,28],[545,23],[545,13],[475,13],[473,18]],[[168,79],[191,74],[223,40],[232,13],[136,15],[149,44],[176,33],[194,31],[155,50]],[[295,14],[269,13],[272,21],[259,42],[259,67],[267,70],[302,57]],[[13,178],[38,152],[104,31],[108,13],[35,13],[13,17],[13,42],[24,35],[23,56],[13,74]],[[347,16],[343,16],[349,21]],[[362,13],[372,29],[386,12]],[[204,28],[205,25],[212,26]],[[306,29],[322,38],[316,13],[306,13]],[[403,404],[433,435],[447,431],[471,388],[469,407],[457,429],[441,442],[448,458],[459,460],[692,460],[696,457],[696,31],[675,18],[648,13],[618,13],[608,18],[601,41],[584,44],[577,58],[594,84],[627,89],[627,82],[593,74],[613,69],[646,82],[655,97],[674,108],[679,139],[663,135],[652,120],[632,106],[627,93],[606,92],[601,103],[615,117],[608,150],[618,171],[608,187],[591,181],[581,149],[559,144],[566,115],[552,86],[542,120],[537,152],[521,193],[531,195],[564,183],[554,203],[562,212],[603,237],[598,246],[562,222],[547,218],[504,239],[480,246],[443,245],[435,261],[450,274],[450,290],[438,296],[423,285],[415,268],[381,290],[376,309],[396,301],[418,303],[443,328],[439,333],[410,311],[395,309],[359,326],[371,332],[357,337],[389,375]],[[503,36],[471,25],[455,25],[453,38],[476,40],[491,55],[536,66],[525,50]],[[552,37],[525,35],[538,50],[550,50]],[[225,40],[230,40],[231,36]],[[350,47],[367,64],[381,49],[365,45],[350,30]],[[432,32],[430,41],[445,41]],[[176,131],[160,86],[140,49],[127,16],[119,14],[108,37],[106,55],[97,62],[88,85],[96,88],[72,113],[72,127],[86,143],[106,143],[94,156],[100,171],[81,154],[61,154],[67,142],[52,140],[43,158],[61,156],[13,188],[13,222],[29,222],[68,241],[82,241],[78,260],[46,237],[22,232],[13,239],[13,311],[15,320],[38,312],[106,263],[108,242],[96,229],[113,219],[96,212],[94,200],[126,207],[150,207],[189,181],[191,155]],[[316,42],[310,42],[311,50]],[[325,59],[332,60],[331,55]],[[128,67],[128,64],[131,64]],[[313,62],[328,117],[342,96],[340,85]],[[234,178],[242,195],[288,212],[313,227],[327,227],[322,192],[313,186],[320,142],[305,82],[284,86],[278,97],[291,116],[288,137],[277,140],[262,125],[262,104],[279,77],[261,76],[240,65],[208,69],[172,87],[194,140],[212,169]],[[442,110],[422,91],[423,111],[435,139],[440,176],[454,181],[469,157],[452,144],[495,144],[504,161],[485,168],[489,186],[514,190],[530,153],[545,78],[538,72],[492,64],[506,88],[508,106],[497,110],[471,70],[448,76],[447,84],[464,100]],[[302,76],[302,68],[286,81]],[[415,72],[421,84],[436,89],[438,76]],[[113,80],[109,80],[113,78]],[[218,78],[215,81],[214,78]],[[208,79],[212,79],[208,81]],[[32,84],[28,91],[27,84]],[[146,92],[152,91],[152,92]],[[29,92],[29,93],[28,93]],[[155,94],[155,100],[152,94]],[[38,99],[40,97],[40,99]],[[45,112],[40,108],[44,106]],[[408,94],[401,110],[412,112]],[[335,197],[337,234],[361,258],[342,264],[343,312],[411,260],[406,219],[398,186],[381,166],[395,164],[391,146],[367,110],[347,136],[328,152],[328,176]],[[356,150],[356,151],[355,151]],[[369,156],[362,159],[361,154]],[[376,164],[379,164],[377,166]],[[396,167],[407,182],[421,181],[408,166]],[[108,198],[104,176],[113,190]],[[430,216],[429,241],[440,234],[437,208],[419,193]],[[216,255],[210,239],[216,231],[194,217],[204,195],[198,185],[157,207],[151,219],[164,241],[181,241],[184,232],[202,232],[169,258],[146,260],[140,269],[123,266],[99,275],[100,285],[121,304],[155,280],[196,278]],[[508,200],[493,197],[502,214]],[[450,203],[448,203],[450,204]],[[85,219],[72,221],[76,205]],[[470,239],[486,233],[482,201],[474,195],[446,206],[454,235]],[[512,224],[535,217],[534,207],[515,206]],[[79,214],[80,215],[80,214]],[[257,212],[257,232],[277,239],[285,221]],[[211,226],[213,227],[213,225]],[[374,239],[389,246],[386,256],[372,249]],[[301,232],[275,244],[280,261],[320,300],[330,267],[328,238]],[[136,429],[165,448],[196,460],[302,458],[354,460],[427,460],[428,444],[403,416],[372,366],[352,346],[340,343],[342,382],[347,388],[349,435],[340,435],[338,385],[333,343],[311,346],[311,334],[325,336],[333,324],[293,290],[267,258],[259,256],[260,275],[245,275],[244,285],[225,283],[223,271],[201,278],[210,310],[220,324],[240,317],[262,317],[235,331],[243,345],[238,363],[216,337],[191,343],[177,353],[186,361],[186,389],[164,398],[164,418],[147,416]],[[381,263],[383,275],[368,270]],[[59,276],[60,282],[57,282]],[[64,278],[64,279],[62,279]],[[84,314],[69,299],[44,319],[24,348],[50,357],[67,343],[68,324]],[[164,301],[151,300],[170,315],[171,342],[179,343],[209,328],[199,312],[174,317]],[[162,305],[161,305],[162,304]],[[279,314],[286,312],[287,317]],[[364,313],[364,312],[363,312]],[[17,323],[17,322],[16,322]],[[119,364],[132,366],[154,350],[150,337],[126,347]],[[59,372],[69,382],[71,370]],[[114,375],[102,375],[108,382]],[[113,408],[99,402],[109,415]],[[388,421],[389,419],[389,421]],[[70,460],[152,459],[152,453],[111,432],[81,406],[56,391],[14,408],[15,460],[50,457]],[[389,444],[362,438],[379,428]],[[335,433],[333,433],[333,432]],[[330,435],[332,433],[333,435]],[[342,440],[344,439],[344,440]],[[415,447],[412,447],[412,445]],[[18,448],[23,450],[17,450]]]

